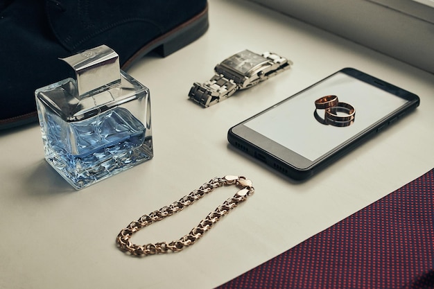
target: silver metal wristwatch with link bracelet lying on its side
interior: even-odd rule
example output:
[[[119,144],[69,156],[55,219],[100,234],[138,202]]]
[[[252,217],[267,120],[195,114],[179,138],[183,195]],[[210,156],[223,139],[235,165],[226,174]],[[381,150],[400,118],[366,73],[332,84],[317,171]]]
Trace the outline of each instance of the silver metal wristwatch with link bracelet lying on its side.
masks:
[[[209,107],[238,89],[246,89],[289,69],[293,62],[265,52],[262,55],[244,50],[223,60],[214,68],[215,75],[202,84],[194,82],[189,98],[203,107]]]

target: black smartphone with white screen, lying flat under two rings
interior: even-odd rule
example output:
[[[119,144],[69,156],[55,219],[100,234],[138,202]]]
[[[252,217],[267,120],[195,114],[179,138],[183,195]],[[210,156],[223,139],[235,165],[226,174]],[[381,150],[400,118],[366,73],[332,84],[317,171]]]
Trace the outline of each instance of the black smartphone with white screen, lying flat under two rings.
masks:
[[[338,105],[318,109],[318,100],[327,105],[334,96]],[[280,173],[306,179],[415,110],[419,102],[409,91],[345,68],[238,123],[227,139]]]

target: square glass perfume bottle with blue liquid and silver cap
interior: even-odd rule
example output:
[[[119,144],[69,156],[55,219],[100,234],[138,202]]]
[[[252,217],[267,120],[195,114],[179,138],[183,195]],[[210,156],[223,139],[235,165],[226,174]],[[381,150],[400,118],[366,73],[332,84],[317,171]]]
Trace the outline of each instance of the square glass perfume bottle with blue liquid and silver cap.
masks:
[[[102,45],[62,58],[76,72],[35,91],[45,159],[75,189],[153,158],[149,89]]]

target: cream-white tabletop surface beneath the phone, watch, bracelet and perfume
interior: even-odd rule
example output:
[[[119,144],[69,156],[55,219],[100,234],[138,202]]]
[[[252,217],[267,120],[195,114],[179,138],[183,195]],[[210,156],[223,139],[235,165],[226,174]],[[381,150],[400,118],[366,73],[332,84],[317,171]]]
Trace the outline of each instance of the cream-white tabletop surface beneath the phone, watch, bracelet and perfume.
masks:
[[[0,132],[0,288],[213,288],[433,168],[432,74],[248,1],[211,0],[209,13],[198,41],[128,71],[151,91],[154,159],[74,191],[44,161],[37,125]],[[280,53],[293,68],[207,109],[188,100],[193,82],[243,49]],[[229,146],[232,125],[344,67],[412,91],[421,105],[307,182]],[[116,248],[129,222],[223,175],[249,177],[256,192],[198,243],[146,258]],[[235,191],[218,189],[132,241],[180,238]]]

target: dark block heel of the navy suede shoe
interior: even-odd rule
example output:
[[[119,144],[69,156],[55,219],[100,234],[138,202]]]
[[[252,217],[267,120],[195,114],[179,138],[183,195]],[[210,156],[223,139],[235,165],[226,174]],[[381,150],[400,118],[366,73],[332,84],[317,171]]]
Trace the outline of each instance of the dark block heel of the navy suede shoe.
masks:
[[[176,31],[171,33],[171,37],[166,39],[166,42],[155,49],[155,52],[166,57],[197,40],[207,31],[208,27],[208,13],[205,12],[203,15],[191,19],[189,23],[178,27]]]

